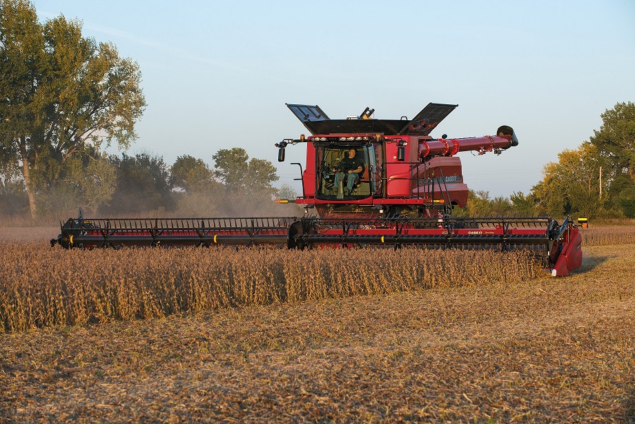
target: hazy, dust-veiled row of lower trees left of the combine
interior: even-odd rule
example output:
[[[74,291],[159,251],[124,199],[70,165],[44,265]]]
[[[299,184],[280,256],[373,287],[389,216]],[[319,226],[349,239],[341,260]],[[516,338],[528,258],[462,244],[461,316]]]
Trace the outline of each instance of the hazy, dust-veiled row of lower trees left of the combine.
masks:
[[[273,199],[281,191],[295,196],[290,186],[273,186],[278,177],[271,162],[249,158],[243,148],[220,149],[213,159],[210,168],[190,155],[171,165],[151,153],[77,155],[64,164],[55,186],[37,191],[37,216],[78,208],[93,216],[280,214]],[[28,216],[25,186],[15,166],[0,171],[0,215]]]

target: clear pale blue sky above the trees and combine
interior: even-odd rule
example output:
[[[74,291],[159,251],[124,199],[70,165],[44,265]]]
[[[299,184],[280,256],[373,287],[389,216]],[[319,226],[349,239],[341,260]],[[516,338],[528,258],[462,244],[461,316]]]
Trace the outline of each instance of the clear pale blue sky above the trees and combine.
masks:
[[[514,127],[520,146],[462,154],[472,189],[528,193],[543,166],[576,148],[600,113],[635,101],[635,1],[56,1],[41,20],[84,22],[139,63],[148,107],[130,154],[213,165],[219,148],[271,160],[280,184],[303,146],[277,162],[273,144],[306,129],[284,104],[331,118],[413,117],[458,104],[433,136]],[[116,149],[114,150],[116,153]]]

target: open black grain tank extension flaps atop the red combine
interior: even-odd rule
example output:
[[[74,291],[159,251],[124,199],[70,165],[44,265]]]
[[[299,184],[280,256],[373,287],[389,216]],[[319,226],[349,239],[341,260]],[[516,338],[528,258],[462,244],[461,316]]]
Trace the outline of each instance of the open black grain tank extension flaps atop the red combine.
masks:
[[[311,134],[429,135],[456,104],[430,103],[411,121],[406,119],[329,119],[320,106],[286,104]]]

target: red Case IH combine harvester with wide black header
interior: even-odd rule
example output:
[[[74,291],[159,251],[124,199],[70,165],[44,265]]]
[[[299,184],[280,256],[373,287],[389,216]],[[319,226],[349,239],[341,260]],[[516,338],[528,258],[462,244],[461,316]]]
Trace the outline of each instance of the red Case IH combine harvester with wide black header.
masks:
[[[275,144],[306,144],[301,197],[288,202],[315,209],[304,218],[71,218],[51,244],[62,247],[212,246],[279,244],[305,247],[418,247],[531,250],[554,276],[567,276],[582,264],[580,233],[566,218],[459,218],[451,211],[467,204],[462,151],[478,155],[518,146],[514,130],[496,135],[440,139],[431,131],[456,108],[428,104],[416,117],[329,119],[319,106],[287,104],[311,132],[309,137]],[[300,180],[300,179],[298,179]],[[280,201],[287,202],[287,201]]]

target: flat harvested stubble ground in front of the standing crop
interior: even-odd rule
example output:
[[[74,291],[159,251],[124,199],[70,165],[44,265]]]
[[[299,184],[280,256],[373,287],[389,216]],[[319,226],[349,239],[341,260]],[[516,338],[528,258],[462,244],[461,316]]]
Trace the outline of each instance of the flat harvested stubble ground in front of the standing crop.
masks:
[[[30,231],[0,241],[51,272]],[[569,278],[0,333],[0,421],[633,422],[634,235],[587,231]]]

